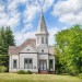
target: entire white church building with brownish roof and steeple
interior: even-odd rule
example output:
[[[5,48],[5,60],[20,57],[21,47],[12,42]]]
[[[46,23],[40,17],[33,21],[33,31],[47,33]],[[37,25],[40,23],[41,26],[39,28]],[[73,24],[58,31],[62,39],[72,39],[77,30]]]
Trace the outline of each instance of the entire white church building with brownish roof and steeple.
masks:
[[[9,47],[9,71],[19,70],[32,72],[54,72],[55,55],[54,47],[48,46],[49,33],[46,27],[44,15],[40,15],[36,38],[30,38],[21,46]]]

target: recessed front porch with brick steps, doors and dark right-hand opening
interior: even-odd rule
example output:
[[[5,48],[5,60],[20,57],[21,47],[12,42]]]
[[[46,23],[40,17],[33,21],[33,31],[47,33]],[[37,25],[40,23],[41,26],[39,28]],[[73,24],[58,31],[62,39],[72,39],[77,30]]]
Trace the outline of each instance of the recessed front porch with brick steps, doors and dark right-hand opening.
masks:
[[[45,74],[48,74],[48,73],[55,73],[55,70],[54,70],[54,60],[52,59],[49,59],[48,61],[46,59],[44,60],[39,60],[39,69],[38,69],[38,73],[45,73]]]

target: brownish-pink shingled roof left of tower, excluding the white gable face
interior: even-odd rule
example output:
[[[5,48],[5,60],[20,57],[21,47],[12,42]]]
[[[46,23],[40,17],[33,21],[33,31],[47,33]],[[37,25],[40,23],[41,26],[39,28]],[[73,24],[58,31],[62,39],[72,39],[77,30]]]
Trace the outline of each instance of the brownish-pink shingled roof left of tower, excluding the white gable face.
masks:
[[[19,52],[27,45],[31,45],[36,50],[36,39],[30,38],[25,40],[21,46],[9,46],[9,55],[19,55]]]

